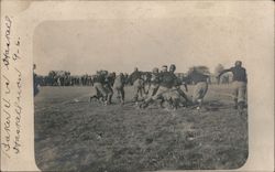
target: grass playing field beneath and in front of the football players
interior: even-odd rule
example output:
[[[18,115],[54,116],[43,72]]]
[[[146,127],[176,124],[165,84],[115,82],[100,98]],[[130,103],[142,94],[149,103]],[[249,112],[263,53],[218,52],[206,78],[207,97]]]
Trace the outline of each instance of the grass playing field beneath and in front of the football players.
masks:
[[[90,87],[41,87],[35,97],[35,159],[43,171],[134,172],[238,169],[248,158],[248,114],[230,85],[211,85],[205,108],[136,109],[88,103]],[[191,87],[190,90],[191,93]]]

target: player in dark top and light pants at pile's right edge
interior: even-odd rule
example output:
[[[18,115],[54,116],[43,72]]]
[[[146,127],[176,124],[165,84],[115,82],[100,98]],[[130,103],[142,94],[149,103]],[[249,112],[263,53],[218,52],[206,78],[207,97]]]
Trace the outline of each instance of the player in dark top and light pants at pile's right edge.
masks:
[[[187,79],[195,83],[195,88],[193,92],[193,104],[198,104],[197,109],[201,108],[204,98],[208,90],[208,83],[207,79],[209,75],[204,74],[198,68],[194,67],[187,76]]]

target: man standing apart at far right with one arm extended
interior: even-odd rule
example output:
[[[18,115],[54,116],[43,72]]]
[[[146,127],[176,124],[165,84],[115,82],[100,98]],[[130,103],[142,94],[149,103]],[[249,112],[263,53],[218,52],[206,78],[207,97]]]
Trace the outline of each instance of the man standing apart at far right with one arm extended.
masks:
[[[248,84],[248,76],[245,68],[242,67],[242,62],[237,61],[234,67],[229,69],[223,69],[218,75],[218,80],[222,74],[231,72],[233,73],[233,96],[234,96],[234,108],[239,108],[242,110],[245,104],[245,93],[246,93],[246,84]]]

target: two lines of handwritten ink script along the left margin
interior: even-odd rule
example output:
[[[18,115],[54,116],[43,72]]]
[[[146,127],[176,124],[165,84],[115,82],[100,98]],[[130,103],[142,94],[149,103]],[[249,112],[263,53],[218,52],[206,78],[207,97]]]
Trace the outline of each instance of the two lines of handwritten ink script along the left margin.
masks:
[[[20,55],[20,36],[12,32],[12,18],[4,18],[4,42],[2,52],[1,82],[1,151],[7,158],[21,152],[22,119],[22,72],[16,67],[22,60]]]

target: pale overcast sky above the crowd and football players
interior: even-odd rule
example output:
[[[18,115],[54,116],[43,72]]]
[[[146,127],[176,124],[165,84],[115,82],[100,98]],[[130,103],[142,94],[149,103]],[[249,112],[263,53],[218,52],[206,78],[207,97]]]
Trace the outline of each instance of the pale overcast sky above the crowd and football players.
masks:
[[[42,75],[151,71],[164,64],[176,64],[177,72],[194,65],[212,72],[219,63],[245,65],[249,30],[241,18],[227,15],[46,21],[35,30],[33,55]]]

